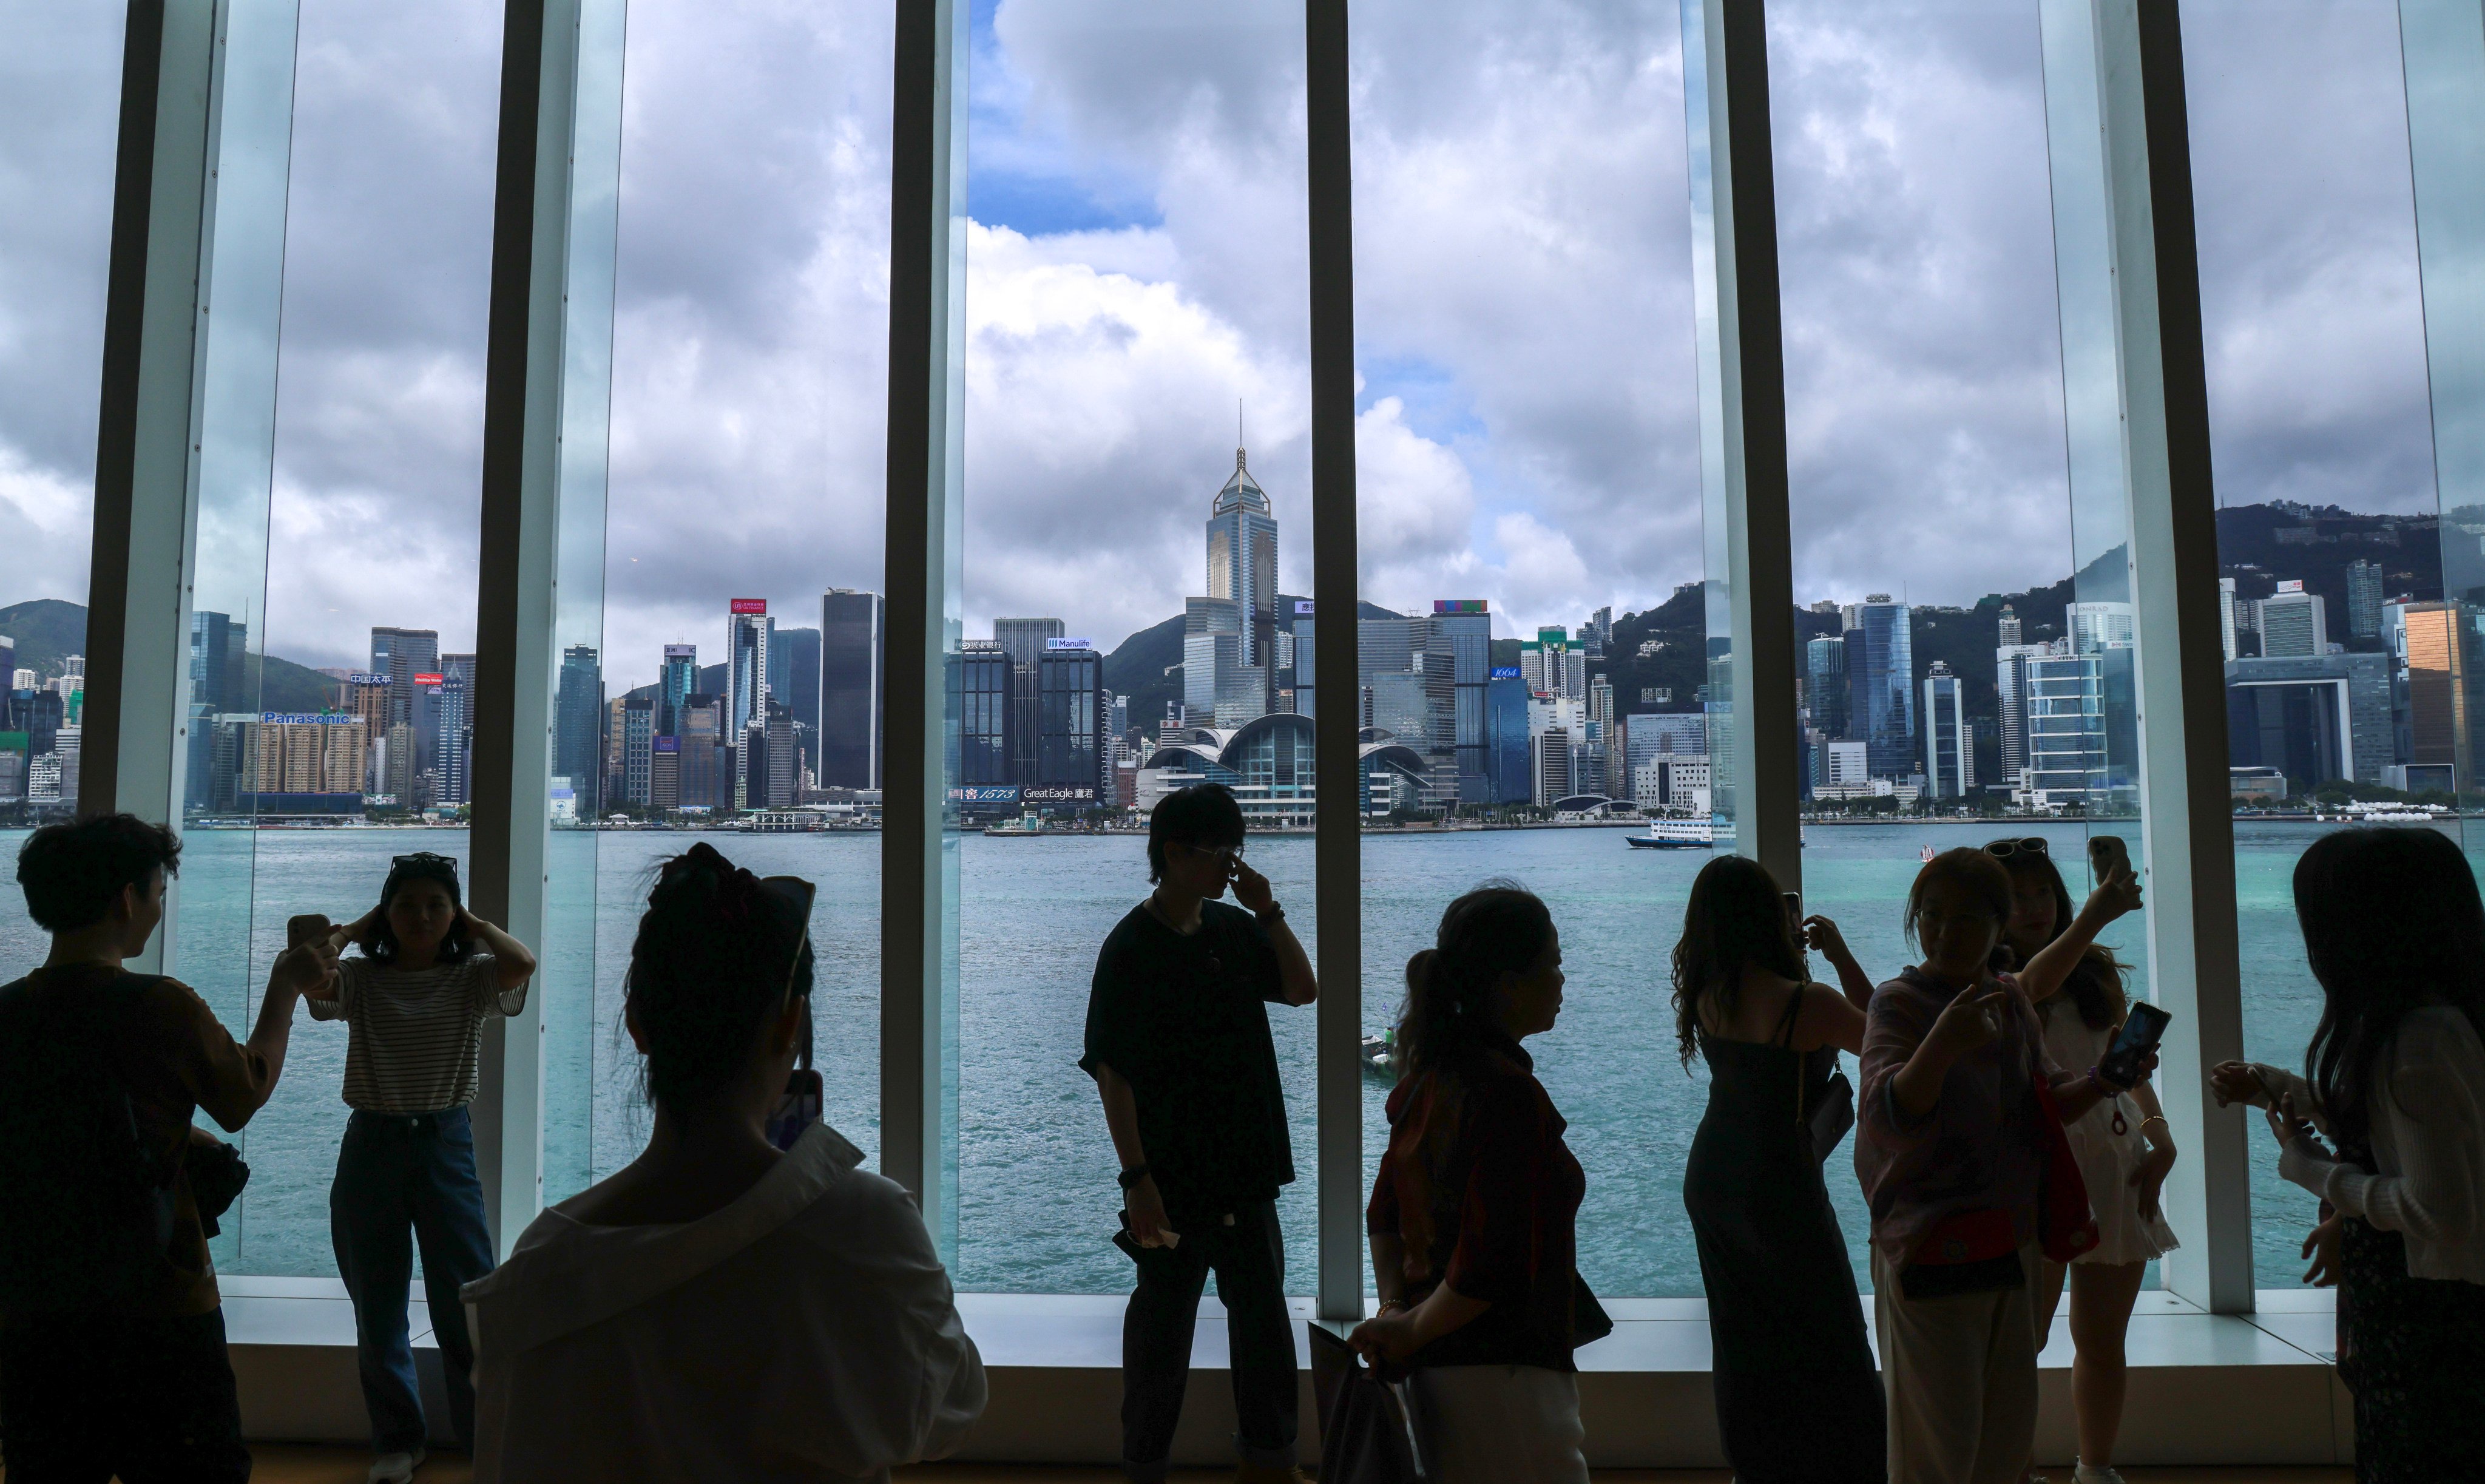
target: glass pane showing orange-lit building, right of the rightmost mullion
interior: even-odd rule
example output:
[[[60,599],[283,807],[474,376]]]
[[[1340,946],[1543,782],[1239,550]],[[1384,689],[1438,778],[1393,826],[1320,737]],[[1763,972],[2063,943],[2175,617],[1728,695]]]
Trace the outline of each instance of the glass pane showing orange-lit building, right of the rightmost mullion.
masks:
[[[2301,1071],[2321,1017],[2294,912],[2304,848],[2366,820],[2460,830],[2480,629],[2443,577],[2458,544],[2475,564],[2475,534],[2438,520],[2398,12],[2187,5],[2184,57],[2244,1054]],[[2316,1218],[2254,1121],[2259,1288],[2299,1285]]]

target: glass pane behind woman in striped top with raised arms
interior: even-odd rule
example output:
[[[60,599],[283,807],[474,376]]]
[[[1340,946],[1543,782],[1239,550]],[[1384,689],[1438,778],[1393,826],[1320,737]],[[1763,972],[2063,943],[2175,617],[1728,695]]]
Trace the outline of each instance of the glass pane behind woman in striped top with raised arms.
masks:
[[[186,895],[184,932],[199,912],[189,937],[214,957],[194,969],[176,945],[174,972],[214,964],[209,1002],[234,1034],[258,1009],[288,917],[360,917],[390,855],[467,860],[499,20],[477,0],[301,12],[266,624],[246,609],[239,539],[221,577],[231,597],[211,602],[201,564],[199,609],[226,616],[229,654],[244,656],[241,706],[201,689],[211,616],[194,626],[191,661],[194,713],[214,703],[216,721],[191,753],[209,778],[194,781],[184,885],[221,897]],[[390,87],[375,85],[383,72]],[[201,510],[201,547],[209,534]],[[219,858],[236,870],[201,870]],[[251,1186],[216,1238],[221,1270],[335,1273],[345,1039],[343,1022],[296,1022],[276,1096],[239,1138]]]

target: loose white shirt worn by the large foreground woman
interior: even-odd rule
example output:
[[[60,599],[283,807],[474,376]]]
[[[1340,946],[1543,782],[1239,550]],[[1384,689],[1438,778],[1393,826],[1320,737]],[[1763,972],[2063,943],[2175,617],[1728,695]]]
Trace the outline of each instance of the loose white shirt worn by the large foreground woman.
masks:
[[[681,1225],[549,1208],[467,1283],[475,1479],[875,1479],[984,1412],[914,1198],[813,1126]]]

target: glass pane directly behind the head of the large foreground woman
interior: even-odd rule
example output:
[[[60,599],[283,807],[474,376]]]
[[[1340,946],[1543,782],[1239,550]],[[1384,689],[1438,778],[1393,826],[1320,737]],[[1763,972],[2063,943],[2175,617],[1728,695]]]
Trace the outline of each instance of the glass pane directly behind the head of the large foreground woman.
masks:
[[[629,5],[609,529],[564,532],[604,537],[601,634],[564,636],[554,756],[614,828],[554,833],[591,974],[547,1002],[547,1201],[646,1146],[624,979],[698,840],[815,882],[823,1116],[880,1148],[890,45],[885,10]]]

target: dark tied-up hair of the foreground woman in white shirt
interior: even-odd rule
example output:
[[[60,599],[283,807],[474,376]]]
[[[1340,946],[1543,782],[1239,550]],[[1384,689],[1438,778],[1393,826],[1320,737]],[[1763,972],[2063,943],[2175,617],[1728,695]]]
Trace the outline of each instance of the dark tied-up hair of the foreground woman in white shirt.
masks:
[[[673,1116],[713,1104],[748,1069],[768,1017],[810,997],[810,962],[805,922],[755,875],[706,840],[666,860],[624,984],[646,1099]]]

